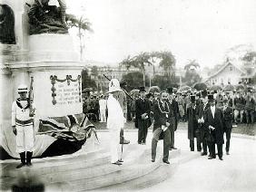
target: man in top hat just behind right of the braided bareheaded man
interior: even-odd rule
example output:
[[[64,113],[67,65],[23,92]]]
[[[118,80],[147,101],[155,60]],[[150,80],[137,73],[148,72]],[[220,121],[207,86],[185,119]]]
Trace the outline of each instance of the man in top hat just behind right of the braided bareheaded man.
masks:
[[[169,97],[168,97],[168,105],[170,108],[170,114],[169,114],[169,123],[170,123],[170,139],[171,139],[171,143],[170,143],[170,150],[172,149],[177,149],[174,147],[174,131],[177,130],[177,125],[178,125],[178,113],[179,113],[179,107],[178,107],[178,102],[174,100],[174,95],[172,92],[172,87],[171,88],[167,88],[167,92],[169,93]]]

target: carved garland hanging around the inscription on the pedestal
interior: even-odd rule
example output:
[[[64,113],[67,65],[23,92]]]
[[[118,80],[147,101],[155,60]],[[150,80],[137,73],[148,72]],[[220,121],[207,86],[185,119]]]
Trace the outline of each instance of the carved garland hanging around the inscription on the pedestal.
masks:
[[[50,76],[50,80],[51,80],[51,83],[52,83],[52,88],[51,88],[51,91],[52,91],[52,97],[53,97],[53,105],[55,105],[57,103],[57,101],[55,100],[55,97],[56,97],[56,88],[54,87],[55,83],[56,82],[67,82],[67,85],[70,86],[70,82],[78,82],[78,90],[79,90],[79,102],[81,102],[81,75],[78,75],[76,79],[72,79],[72,75],[66,75],[66,78],[61,80],[61,79],[58,79],[58,77],[56,75],[51,75]]]

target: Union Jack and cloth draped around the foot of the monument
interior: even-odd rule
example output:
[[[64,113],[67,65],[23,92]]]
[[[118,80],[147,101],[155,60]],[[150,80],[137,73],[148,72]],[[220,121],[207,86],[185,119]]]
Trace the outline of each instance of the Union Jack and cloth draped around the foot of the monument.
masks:
[[[84,113],[39,120],[35,130],[37,132],[34,136],[33,156],[38,158],[74,153],[89,139],[98,139],[94,124]],[[15,151],[15,135],[12,128],[2,128],[1,131],[1,147],[12,158],[19,158],[19,154]],[[1,156],[0,159],[3,157]]]

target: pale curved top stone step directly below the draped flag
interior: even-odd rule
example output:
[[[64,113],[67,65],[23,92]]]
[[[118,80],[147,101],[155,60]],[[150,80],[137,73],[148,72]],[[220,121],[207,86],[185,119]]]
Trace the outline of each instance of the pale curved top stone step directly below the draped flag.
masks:
[[[136,145],[126,145],[123,147],[123,158],[129,156],[131,152],[138,152]],[[69,171],[75,168],[88,168],[103,165],[110,161],[109,149],[100,148],[91,151],[78,151],[74,154],[49,157],[49,158],[33,158],[34,171],[40,174],[47,174],[55,171]],[[8,159],[3,160],[0,165],[1,176],[10,175],[9,171],[16,170],[15,167],[20,163],[19,160]]]

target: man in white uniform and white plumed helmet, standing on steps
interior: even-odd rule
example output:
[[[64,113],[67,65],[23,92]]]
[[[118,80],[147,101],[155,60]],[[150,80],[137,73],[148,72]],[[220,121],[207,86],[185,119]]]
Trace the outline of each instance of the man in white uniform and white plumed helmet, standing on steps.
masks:
[[[120,103],[117,101],[119,91],[122,91],[117,79],[112,79],[109,82],[109,97],[107,100],[107,129],[110,130],[110,152],[111,163],[122,165],[121,146],[120,146],[120,131],[124,127],[123,110]]]

